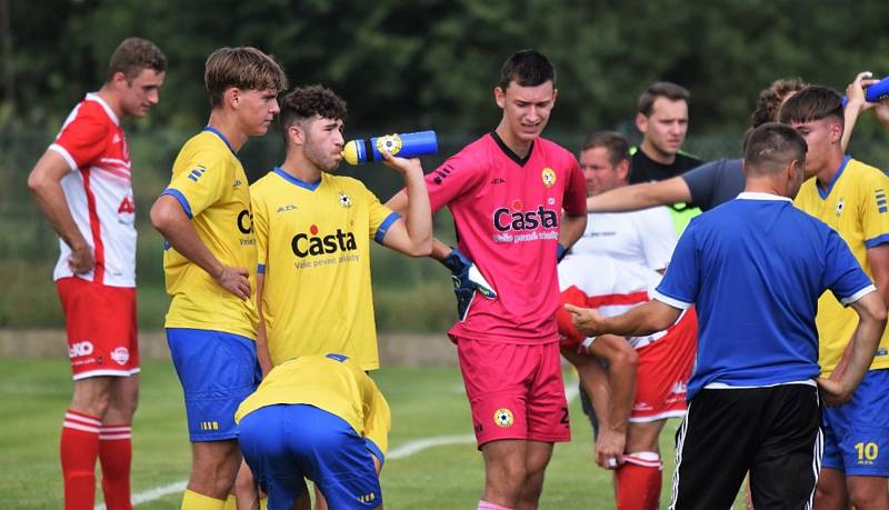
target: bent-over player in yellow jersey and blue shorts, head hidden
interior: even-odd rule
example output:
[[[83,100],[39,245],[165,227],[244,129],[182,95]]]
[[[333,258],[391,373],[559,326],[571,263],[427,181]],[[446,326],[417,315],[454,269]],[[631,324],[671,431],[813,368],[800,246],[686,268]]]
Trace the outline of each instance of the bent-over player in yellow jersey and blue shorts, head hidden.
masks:
[[[340,354],[273,368],[238,408],[239,443],[269,510],[308,509],[308,478],[331,510],[382,508],[378,467],[391,422],[373,381]]]

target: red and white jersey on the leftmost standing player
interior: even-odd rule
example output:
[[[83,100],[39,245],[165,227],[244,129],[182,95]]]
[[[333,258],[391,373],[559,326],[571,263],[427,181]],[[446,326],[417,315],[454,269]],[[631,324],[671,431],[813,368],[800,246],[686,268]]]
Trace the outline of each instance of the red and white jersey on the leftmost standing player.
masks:
[[[78,277],[111,287],[136,287],[136,201],[130,151],[117,114],[99,94],[88,93],[49,150],[71,167],[61,186],[96,259],[93,270]],[[59,248],[54,280],[73,276],[68,267],[70,248],[61,239]]]

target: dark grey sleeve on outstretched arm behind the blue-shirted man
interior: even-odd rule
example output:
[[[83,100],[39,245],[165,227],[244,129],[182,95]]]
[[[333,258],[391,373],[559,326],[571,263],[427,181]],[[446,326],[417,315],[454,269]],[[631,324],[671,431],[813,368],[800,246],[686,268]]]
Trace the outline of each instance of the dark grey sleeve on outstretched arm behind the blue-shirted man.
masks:
[[[720,159],[683,173],[691,191],[691,204],[708,211],[735,199],[743,191],[745,174],[740,159]]]

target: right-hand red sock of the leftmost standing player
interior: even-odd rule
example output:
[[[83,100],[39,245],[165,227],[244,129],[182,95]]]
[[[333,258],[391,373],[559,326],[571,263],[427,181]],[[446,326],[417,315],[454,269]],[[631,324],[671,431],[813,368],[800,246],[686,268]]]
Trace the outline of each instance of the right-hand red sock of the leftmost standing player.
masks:
[[[131,510],[130,464],[132,428],[129,423],[103,424],[99,429],[99,463],[102,467],[102,492],[108,510]]]

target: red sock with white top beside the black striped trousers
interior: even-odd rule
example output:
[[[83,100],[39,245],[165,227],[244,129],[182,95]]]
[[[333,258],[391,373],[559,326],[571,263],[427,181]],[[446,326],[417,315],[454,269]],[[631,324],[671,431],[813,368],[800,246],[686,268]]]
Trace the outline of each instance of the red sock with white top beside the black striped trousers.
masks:
[[[615,471],[618,510],[657,510],[660,500],[660,456],[651,451],[625,454]]]

